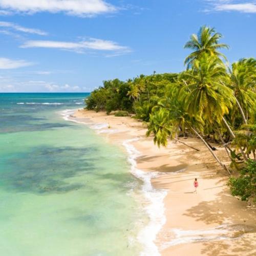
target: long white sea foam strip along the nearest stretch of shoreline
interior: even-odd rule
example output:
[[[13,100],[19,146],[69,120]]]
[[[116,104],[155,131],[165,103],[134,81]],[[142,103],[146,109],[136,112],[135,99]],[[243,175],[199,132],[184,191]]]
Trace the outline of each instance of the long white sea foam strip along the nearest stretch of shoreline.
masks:
[[[144,245],[141,256],[155,256],[160,255],[155,240],[158,232],[166,222],[163,200],[167,195],[167,191],[165,189],[155,189],[152,186],[151,179],[156,177],[158,173],[143,172],[137,168],[136,159],[140,156],[140,153],[131,144],[131,142],[136,140],[138,139],[125,140],[123,146],[129,154],[128,160],[131,164],[132,174],[143,181],[142,193],[148,202],[145,210],[148,217],[150,217],[150,223],[139,232],[138,240]]]

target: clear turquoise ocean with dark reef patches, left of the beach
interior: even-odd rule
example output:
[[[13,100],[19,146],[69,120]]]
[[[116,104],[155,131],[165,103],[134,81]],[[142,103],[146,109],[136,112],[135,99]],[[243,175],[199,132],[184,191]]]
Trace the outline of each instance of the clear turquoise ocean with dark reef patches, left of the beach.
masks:
[[[127,154],[65,120],[86,93],[0,93],[0,254],[140,255]],[[63,114],[64,113],[64,114]],[[67,119],[67,118],[66,118]]]

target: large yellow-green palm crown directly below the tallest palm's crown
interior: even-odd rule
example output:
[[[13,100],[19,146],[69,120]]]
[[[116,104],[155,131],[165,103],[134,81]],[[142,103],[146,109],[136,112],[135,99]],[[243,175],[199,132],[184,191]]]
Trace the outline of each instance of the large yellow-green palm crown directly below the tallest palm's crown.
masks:
[[[202,123],[204,120],[220,123],[234,102],[232,90],[221,82],[227,79],[223,62],[203,53],[184,76],[187,82],[180,90],[180,97],[188,114],[199,117]]]

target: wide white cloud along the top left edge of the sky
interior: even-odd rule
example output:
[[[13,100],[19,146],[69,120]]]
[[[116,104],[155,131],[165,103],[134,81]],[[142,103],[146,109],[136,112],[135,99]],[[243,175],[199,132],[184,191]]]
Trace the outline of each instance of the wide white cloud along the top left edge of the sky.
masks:
[[[117,10],[104,0],[0,0],[0,7],[6,11],[29,14],[64,12],[77,16],[92,16]]]

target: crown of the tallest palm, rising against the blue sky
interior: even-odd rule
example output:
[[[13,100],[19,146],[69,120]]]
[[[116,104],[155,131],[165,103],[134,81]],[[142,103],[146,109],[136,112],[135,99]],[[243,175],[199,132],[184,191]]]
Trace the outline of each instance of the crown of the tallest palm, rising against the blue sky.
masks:
[[[222,34],[216,33],[214,28],[203,26],[200,28],[198,34],[190,36],[190,40],[186,42],[184,48],[191,49],[194,52],[189,54],[184,64],[187,68],[191,68],[193,62],[203,53],[214,55],[226,59],[225,55],[218,51],[218,49],[229,49],[226,44],[219,44]]]

